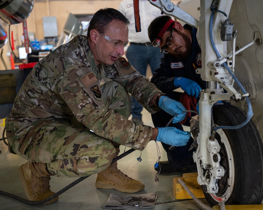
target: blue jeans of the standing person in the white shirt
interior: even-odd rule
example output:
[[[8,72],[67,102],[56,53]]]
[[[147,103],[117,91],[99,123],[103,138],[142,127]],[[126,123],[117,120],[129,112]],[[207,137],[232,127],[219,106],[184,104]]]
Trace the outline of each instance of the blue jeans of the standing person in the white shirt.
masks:
[[[141,44],[131,44],[126,52],[126,57],[131,65],[146,76],[146,70],[148,64],[151,67],[152,73],[161,63],[161,57],[163,53],[160,53],[160,48],[155,48],[152,45],[146,46]],[[132,97],[131,100],[131,114],[133,118],[141,119],[141,111],[143,107],[139,102]]]

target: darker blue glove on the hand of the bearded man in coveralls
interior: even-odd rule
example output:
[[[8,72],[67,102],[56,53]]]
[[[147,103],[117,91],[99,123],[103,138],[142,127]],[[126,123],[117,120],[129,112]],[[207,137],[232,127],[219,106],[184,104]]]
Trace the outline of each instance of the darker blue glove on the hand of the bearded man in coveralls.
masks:
[[[193,80],[184,78],[184,77],[176,77],[174,79],[174,86],[180,87],[187,93],[187,95],[198,97],[202,88]]]

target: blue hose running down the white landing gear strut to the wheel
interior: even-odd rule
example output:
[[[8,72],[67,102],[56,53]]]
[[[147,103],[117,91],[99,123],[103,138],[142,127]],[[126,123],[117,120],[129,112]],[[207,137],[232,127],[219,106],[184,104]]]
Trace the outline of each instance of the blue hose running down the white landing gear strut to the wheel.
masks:
[[[214,19],[214,14],[215,12],[221,12],[223,13],[222,11],[220,10],[215,10],[213,9],[213,3],[214,1],[212,2],[212,5],[211,5],[211,16],[210,16],[210,22],[209,22],[209,38],[210,38],[210,42],[211,42],[211,45],[216,53],[216,56],[218,57],[218,59],[221,58],[220,54],[218,53],[218,50],[216,49],[215,47],[215,44],[214,44],[214,40],[213,40],[213,35],[212,35],[212,25],[213,25],[213,19]],[[227,15],[225,13],[223,13],[226,17]],[[237,85],[239,86],[239,88],[241,89],[241,91],[243,92],[243,94],[247,94],[245,88],[242,86],[242,84],[237,80],[236,76],[233,74],[233,72],[231,71],[231,69],[227,66],[226,63],[223,63],[223,66],[226,68],[226,70],[229,72],[229,74],[233,77],[233,79],[235,80],[235,82],[237,83]],[[247,111],[247,119],[241,123],[240,125],[235,125],[235,126],[225,126],[225,125],[222,125],[222,126],[218,126],[218,127],[215,127],[214,128],[214,131],[218,130],[218,129],[239,129],[241,127],[243,127],[244,125],[246,125],[249,120],[252,118],[253,116],[253,111],[252,111],[252,106],[251,106],[251,102],[250,102],[250,99],[248,96],[245,96],[246,98],[246,102],[247,102],[247,106],[248,106],[248,111]]]

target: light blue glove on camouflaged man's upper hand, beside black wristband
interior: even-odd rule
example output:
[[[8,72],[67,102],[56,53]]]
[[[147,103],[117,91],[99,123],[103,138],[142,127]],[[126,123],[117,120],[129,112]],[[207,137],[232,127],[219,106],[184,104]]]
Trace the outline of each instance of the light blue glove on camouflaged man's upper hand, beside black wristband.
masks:
[[[167,96],[161,96],[158,105],[161,109],[163,109],[163,111],[172,116],[178,114],[176,117],[174,117],[173,123],[181,122],[186,116],[186,112],[182,113],[183,111],[186,111],[183,104],[171,98],[168,98]]]

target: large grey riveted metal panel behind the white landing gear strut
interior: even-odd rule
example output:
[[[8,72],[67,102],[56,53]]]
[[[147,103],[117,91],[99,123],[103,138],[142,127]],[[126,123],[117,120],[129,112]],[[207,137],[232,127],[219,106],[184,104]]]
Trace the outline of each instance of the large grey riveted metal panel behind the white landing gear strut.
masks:
[[[237,30],[236,46],[240,48],[253,41],[253,34],[259,32],[263,35],[263,1],[262,0],[234,0],[229,14],[230,22],[234,23]],[[228,42],[228,52],[233,48],[233,40]],[[235,75],[241,82],[247,93],[254,116],[252,117],[257,129],[263,137],[263,44],[254,44],[235,57]],[[239,90],[237,85],[234,85]],[[246,100],[231,104],[247,111]]]

